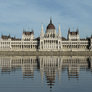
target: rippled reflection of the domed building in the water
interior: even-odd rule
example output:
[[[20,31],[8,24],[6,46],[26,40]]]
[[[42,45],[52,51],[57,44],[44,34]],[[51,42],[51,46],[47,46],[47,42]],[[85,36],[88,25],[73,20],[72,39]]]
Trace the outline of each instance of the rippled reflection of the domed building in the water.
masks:
[[[61,79],[61,73],[67,69],[68,78],[79,78],[81,69],[92,70],[92,57],[80,56],[31,56],[31,57],[0,57],[1,73],[11,73],[22,70],[23,78],[34,78],[34,71],[40,71],[41,79],[46,78],[50,88],[55,84],[56,76]]]

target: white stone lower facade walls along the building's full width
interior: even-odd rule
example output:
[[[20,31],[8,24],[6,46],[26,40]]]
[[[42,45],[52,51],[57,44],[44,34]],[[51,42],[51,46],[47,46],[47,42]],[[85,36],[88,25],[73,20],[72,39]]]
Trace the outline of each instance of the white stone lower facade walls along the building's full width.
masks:
[[[37,40],[0,40],[0,50],[6,51],[88,51],[88,40],[62,41],[60,38],[41,38],[40,45],[37,49]],[[92,46],[92,40],[91,40]]]

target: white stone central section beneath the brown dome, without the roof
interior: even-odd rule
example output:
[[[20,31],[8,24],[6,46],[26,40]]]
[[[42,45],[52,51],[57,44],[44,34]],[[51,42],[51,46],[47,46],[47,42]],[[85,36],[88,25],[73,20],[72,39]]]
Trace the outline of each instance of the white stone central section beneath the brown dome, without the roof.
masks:
[[[43,29],[43,28],[42,28]],[[44,36],[40,36],[40,51],[61,51],[62,40],[59,27],[59,33],[56,33],[56,29],[47,29]],[[41,30],[41,34],[43,30]]]

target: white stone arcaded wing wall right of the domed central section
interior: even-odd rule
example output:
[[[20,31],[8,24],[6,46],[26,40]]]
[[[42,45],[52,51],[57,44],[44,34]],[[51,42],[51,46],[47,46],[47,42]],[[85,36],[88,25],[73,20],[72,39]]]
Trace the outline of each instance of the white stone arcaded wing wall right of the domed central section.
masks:
[[[63,51],[87,51],[88,41],[79,40],[79,41],[62,41]]]

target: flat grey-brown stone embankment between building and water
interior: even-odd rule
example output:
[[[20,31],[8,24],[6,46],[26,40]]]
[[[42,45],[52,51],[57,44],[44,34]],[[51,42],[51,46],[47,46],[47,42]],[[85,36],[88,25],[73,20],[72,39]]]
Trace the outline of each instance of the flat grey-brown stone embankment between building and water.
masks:
[[[92,56],[92,51],[0,51],[0,56]]]

